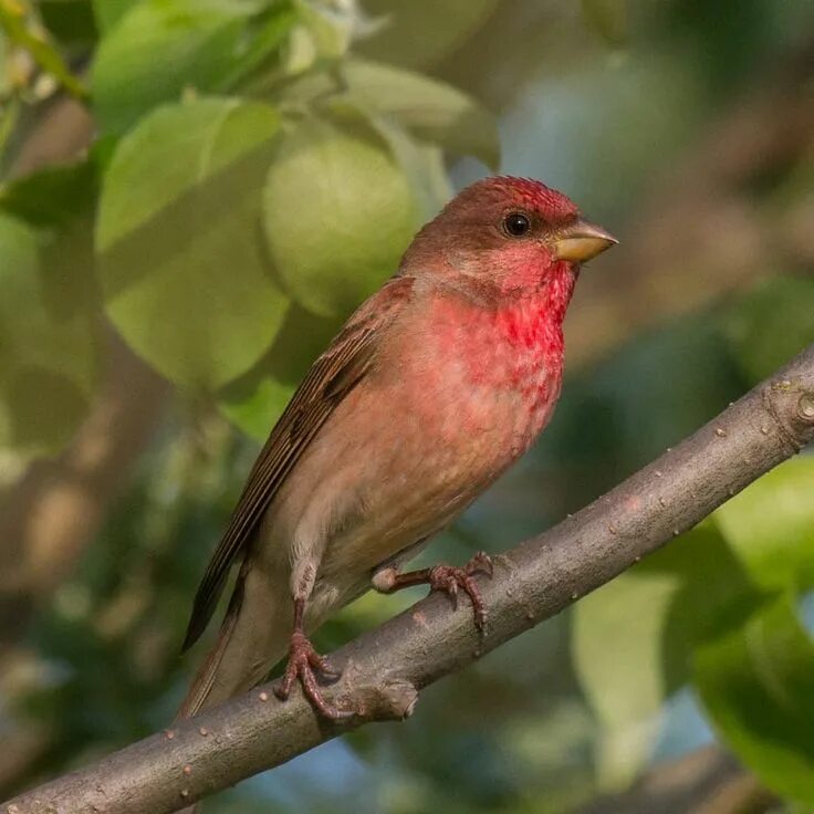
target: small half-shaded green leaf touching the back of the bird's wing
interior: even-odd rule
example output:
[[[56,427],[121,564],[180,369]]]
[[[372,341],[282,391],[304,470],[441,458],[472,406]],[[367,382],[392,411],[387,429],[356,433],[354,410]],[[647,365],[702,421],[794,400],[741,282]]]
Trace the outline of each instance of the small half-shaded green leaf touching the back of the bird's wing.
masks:
[[[314,359],[338,332],[341,320],[325,320],[294,305],[271,349],[251,371],[218,394],[227,418],[264,441]]]

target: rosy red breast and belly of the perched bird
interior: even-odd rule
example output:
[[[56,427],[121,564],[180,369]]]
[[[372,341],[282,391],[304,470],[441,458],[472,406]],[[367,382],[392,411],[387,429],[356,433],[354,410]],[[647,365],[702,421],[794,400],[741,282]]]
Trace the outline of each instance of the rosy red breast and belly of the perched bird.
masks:
[[[338,585],[443,528],[551,415],[562,337],[544,317],[534,303],[411,315],[284,484],[274,533],[325,535],[320,578]]]

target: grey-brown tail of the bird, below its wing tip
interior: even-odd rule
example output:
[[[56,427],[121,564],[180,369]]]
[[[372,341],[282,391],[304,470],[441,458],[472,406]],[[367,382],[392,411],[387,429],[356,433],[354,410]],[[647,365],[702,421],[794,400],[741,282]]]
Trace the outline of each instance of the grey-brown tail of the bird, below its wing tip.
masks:
[[[241,570],[218,639],[177,718],[191,718],[260,683],[285,655],[293,625],[291,605],[288,591],[272,585],[260,568]]]

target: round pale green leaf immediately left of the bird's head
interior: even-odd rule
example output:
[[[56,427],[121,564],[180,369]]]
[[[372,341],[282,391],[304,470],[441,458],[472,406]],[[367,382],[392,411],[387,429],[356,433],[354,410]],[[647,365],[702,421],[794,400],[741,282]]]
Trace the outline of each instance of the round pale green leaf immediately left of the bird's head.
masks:
[[[288,290],[341,316],[396,271],[419,206],[396,159],[369,128],[317,118],[283,142],[265,184],[265,237]]]

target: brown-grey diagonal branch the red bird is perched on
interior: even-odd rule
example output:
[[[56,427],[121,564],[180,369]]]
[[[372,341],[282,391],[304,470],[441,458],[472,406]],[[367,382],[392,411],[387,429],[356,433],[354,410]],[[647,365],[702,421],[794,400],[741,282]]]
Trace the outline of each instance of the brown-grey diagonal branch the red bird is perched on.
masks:
[[[261,687],[174,730],[7,802],[4,814],[173,812],[374,720],[401,719],[418,692],[608,582],[691,528],[814,437],[814,345],[680,446],[549,532],[495,557],[481,580],[490,626],[434,595],[336,654],[331,690],[357,714],[320,720],[298,695]]]

